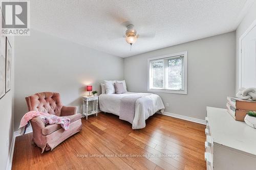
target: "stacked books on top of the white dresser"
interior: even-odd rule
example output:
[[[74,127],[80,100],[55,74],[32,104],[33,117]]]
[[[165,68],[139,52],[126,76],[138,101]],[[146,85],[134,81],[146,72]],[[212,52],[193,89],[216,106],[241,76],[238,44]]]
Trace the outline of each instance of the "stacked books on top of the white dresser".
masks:
[[[243,121],[248,111],[256,111],[256,102],[227,97],[227,112],[236,120]]]

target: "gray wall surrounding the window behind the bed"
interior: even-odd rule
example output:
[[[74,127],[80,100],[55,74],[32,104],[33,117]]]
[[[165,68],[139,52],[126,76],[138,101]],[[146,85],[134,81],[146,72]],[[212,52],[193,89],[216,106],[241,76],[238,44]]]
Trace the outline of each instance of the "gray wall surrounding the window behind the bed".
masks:
[[[129,91],[147,91],[147,58],[188,52],[187,94],[156,93],[166,112],[204,119],[206,106],[225,108],[235,88],[235,32],[191,41],[124,59]]]

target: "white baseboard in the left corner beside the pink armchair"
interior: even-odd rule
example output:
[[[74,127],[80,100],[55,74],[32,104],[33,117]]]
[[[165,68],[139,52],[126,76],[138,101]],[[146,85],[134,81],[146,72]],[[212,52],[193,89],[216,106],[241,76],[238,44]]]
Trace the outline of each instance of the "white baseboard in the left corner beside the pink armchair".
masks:
[[[26,130],[26,133],[31,133],[33,132],[32,127],[29,126]],[[12,143],[11,143],[11,148],[10,148],[10,152],[9,152],[9,156],[8,156],[8,160],[7,160],[7,165],[6,165],[6,170],[11,170],[12,169],[12,158],[13,158],[13,152],[14,152],[14,145],[15,145],[15,139],[17,136],[20,136],[19,131],[15,131],[13,132],[13,136],[12,136]]]

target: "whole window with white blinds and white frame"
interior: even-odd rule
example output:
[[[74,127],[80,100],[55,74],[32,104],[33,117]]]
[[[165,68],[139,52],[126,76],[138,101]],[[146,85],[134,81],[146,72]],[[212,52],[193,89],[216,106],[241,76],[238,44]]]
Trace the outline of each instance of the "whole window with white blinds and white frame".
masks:
[[[187,52],[148,59],[147,91],[187,93]]]

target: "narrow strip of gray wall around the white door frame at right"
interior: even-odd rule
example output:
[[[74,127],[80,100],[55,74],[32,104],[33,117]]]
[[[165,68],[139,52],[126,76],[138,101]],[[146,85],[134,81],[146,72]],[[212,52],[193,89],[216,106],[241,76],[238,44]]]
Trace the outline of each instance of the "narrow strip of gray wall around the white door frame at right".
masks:
[[[249,11],[240,22],[240,25],[236,31],[236,91],[239,88],[239,38],[244,34],[244,32],[250,27],[251,23],[256,19],[256,2],[250,7]]]

